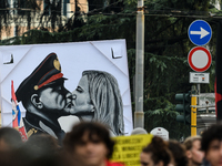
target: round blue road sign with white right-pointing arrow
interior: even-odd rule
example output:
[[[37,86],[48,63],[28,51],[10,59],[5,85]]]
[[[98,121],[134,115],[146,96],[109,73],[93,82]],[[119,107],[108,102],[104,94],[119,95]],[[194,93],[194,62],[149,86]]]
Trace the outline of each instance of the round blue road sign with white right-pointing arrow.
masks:
[[[193,44],[205,45],[211,40],[212,30],[206,21],[195,20],[190,24],[188,35]]]

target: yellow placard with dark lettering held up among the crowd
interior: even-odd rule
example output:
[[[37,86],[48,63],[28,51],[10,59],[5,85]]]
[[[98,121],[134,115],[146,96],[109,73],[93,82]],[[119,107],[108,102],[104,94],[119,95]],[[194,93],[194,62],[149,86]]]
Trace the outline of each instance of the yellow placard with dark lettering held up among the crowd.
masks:
[[[124,163],[125,166],[140,166],[140,153],[152,137],[151,134],[113,137],[115,145],[111,160]]]

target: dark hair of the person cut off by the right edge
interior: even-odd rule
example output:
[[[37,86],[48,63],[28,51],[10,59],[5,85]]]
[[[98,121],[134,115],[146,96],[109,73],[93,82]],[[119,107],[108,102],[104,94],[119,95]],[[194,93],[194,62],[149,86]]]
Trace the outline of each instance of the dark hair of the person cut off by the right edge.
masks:
[[[214,124],[203,132],[201,141],[202,151],[206,153],[209,145],[214,139],[222,141],[222,124]]]

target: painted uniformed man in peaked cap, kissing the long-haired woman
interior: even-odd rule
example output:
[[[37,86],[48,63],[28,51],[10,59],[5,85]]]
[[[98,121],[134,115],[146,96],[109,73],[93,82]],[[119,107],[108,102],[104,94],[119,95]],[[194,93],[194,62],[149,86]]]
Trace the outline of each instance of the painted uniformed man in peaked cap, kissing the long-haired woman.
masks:
[[[48,133],[60,142],[64,136],[58,118],[73,112],[72,94],[56,53],[50,53],[19,85],[16,96],[27,110],[23,118],[28,137]]]

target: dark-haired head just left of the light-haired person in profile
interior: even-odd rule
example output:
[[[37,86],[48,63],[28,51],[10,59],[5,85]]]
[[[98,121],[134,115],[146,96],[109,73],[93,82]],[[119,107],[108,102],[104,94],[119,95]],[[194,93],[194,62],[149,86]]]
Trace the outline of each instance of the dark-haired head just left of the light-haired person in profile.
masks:
[[[185,155],[185,147],[180,144],[178,141],[168,142],[169,149],[172,154],[172,163],[174,166],[188,166],[188,158]]]

